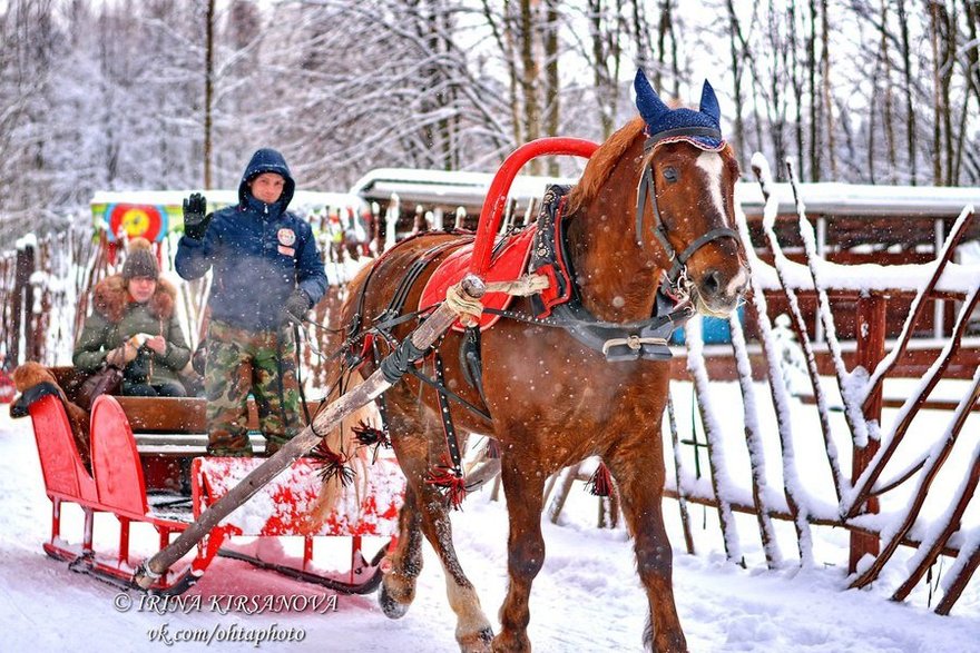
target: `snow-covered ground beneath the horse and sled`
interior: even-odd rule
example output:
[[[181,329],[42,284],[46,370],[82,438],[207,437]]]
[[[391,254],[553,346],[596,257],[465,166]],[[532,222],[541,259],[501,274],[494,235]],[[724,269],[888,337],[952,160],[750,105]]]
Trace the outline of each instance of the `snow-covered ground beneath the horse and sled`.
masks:
[[[680,386],[676,397],[689,394]],[[761,390],[764,392],[764,390]],[[49,533],[49,502],[43,494],[40,467],[28,419],[12,421],[0,408],[0,642],[3,651],[179,651],[232,650],[243,644],[214,641],[154,641],[161,629],[171,637],[193,630],[227,633],[272,632],[290,643],[265,642],[261,650],[282,651],[453,651],[453,619],[449,611],[442,571],[425,547],[415,603],[399,621],[388,620],[375,597],[337,596],[335,610],[323,614],[281,612],[245,614],[210,610],[213,598],[227,596],[320,597],[323,592],[256,571],[244,563],[216,561],[190,594],[200,595],[199,610],[158,614],[117,607],[118,591],[68,571],[41,551]],[[682,413],[683,414],[683,413]],[[976,424],[976,422],[973,423]],[[772,464],[771,464],[772,466]],[[503,506],[488,501],[489,493],[471,496],[454,516],[455,542],[464,568],[491,616],[506,588]],[[530,636],[536,651],[639,651],[645,621],[645,596],[634,572],[630,544],[623,530],[592,526],[595,498],[575,489],[560,526],[546,524],[547,561],[531,595]],[[683,551],[677,509],[666,503],[668,527],[675,543],[674,586],[688,644],[695,652],[980,652],[980,582],[973,578],[951,616],[928,607],[928,588],[920,586],[908,603],[888,601],[899,577],[901,560],[886,567],[870,591],[846,591],[846,534],[815,530],[815,564],[800,568],[793,562],[791,531],[783,567],[766,571],[758,561],[754,522],[739,523],[742,548],[749,562],[741,568],[726,562],[714,511],[693,507],[697,555]],[[77,517],[66,515],[65,532],[72,533]],[[97,533],[101,526],[97,523]],[[704,527],[702,527],[704,524]],[[149,546],[149,533],[136,538],[135,548]],[[678,544],[680,546],[678,546]],[[900,554],[908,557],[908,552]],[[949,561],[945,562],[949,565]],[[935,598],[933,597],[933,605]],[[322,609],[321,609],[322,611]],[[188,631],[189,632],[189,631]],[[252,635],[257,636],[256,634]],[[254,644],[244,644],[249,646]]]

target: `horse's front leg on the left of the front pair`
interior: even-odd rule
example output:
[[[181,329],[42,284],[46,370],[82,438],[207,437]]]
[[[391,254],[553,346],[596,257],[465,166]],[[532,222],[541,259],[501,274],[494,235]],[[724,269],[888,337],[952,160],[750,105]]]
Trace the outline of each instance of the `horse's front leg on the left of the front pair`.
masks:
[[[541,535],[541,507],[548,474],[517,469],[513,456],[501,459],[501,481],[507,497],[510,533],[507,537],[507,573],[509,584],[500,607],[500,634],[493,639],[494,652],[530,651],[528,604],[531,583],[545,564],[545,537]],[[530,458],[523,457],[525,463]]]

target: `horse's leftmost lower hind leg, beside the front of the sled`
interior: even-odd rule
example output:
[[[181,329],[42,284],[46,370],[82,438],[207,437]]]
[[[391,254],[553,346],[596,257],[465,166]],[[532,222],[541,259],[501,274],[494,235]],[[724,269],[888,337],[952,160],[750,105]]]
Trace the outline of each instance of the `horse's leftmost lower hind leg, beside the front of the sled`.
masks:
[[[389,571],[381,581],[378,602],[389,619],[400,619],[415,597],[415,580],[422,571],[422,531],[415,493],[405,488],[405,502],[399,512],[399,538],[388,554]]]

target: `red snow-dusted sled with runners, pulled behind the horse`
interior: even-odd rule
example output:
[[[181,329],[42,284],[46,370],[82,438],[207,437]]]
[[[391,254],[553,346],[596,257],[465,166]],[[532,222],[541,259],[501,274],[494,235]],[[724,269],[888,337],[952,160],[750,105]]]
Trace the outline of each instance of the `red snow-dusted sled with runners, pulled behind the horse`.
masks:
[[[30,390],[29,390],[30,392]],[[133,524],[154,528],[159,548],[174,534],[183,532],[210,503],[220,498],[252,468],[255,458],[202,458],[192,464],[193,515],[164,512],[147,499],[144,464],[129,421],[111,396],[96,399],[91,413],[91,472],[85,466],[72,438],[65,407],[57,390],[37,393],[27,410],[33,423],[45,488],[51,499],[51,537],[45,552],[66,561],[69,568],[92,575],[124,588],[130,588],[136,567],[144,556],[130,552]],[[131,399],[129,399],[131,402]],[[153,402],[154,399],[146,399]],[[371,474],[360,481],[360,494],[344,495],[340,505],[322,524],[307,516],[320,487],[316,469],[301,458],[239,511],[210,531],[180,564],[175,565],[150,587],[165,594],[179,594],[194,585],[215,557],[246,561],[257,567],[327,588],[363,594],[381,581],[381,563],[398,530],[398,511],[404,492],[404,477],[393,459],[378,459]],[[84,513],[81,534],[68,542],[61,534],[65,504],[76,504]],[[118,543],[109,551],[95,546],[97,513],[109,513],[119,522]],[[266,561],[241,550],[226,547],[238,535],[255,537],[302,536],[302,558]],[[320,570],[313,562],[314,542],[323,536],[351,537],[351,566],[341,575]],[[370,560],[361,550],[362,537],[390,540]],[[149,556],[146,556],[148,560]],[[294,564],[295,563],[295,564]]]

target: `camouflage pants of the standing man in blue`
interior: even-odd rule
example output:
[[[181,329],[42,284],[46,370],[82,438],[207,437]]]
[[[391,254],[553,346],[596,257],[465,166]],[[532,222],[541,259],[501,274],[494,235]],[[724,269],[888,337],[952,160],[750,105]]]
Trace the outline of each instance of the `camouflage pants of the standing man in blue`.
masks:
[[[296,345],[288,328],[249,332],[212,321],[207,333],[208,444],[213,456],[251,456],[248,394],[258,409],[266,453],[301,429]]]

